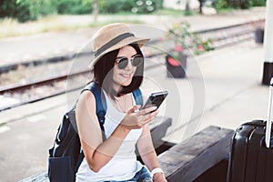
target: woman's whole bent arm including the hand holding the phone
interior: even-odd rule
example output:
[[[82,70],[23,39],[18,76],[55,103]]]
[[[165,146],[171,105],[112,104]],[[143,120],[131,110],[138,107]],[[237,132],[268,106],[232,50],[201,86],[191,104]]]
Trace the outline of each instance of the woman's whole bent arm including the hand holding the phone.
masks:
[[[84,92],[80,96],[76,105],[77,128],[87,164],[93,171],[99,171],[115,156],[132,128],[141,128],[155,117],[155,114],[145,115],[152,109],[135,113],[136,108],[133,106],[127,111],[121,124],[116,126],[112,135],[103,142],[96,117],[96,98],[92,92]]]

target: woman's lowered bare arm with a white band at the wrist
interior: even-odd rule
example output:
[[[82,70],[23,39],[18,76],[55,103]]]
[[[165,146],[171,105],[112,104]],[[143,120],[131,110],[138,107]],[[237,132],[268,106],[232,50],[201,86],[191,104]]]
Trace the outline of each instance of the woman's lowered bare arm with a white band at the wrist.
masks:
[[[150,171],[158,167],[160,168],[148,124],[143,127],[143,132],[137,141],[137,149],[142,161]],[[164,173],[156,173],[153,177],[153,181],[166,182],[167,180]]]

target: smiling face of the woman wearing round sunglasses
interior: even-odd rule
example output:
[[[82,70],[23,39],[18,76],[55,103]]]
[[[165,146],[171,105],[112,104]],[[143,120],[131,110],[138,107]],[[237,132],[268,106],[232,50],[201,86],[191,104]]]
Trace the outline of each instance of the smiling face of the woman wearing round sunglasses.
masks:
[[[130,45],[126,45],[119,49],[116,60],[121,57],[126,57],[130,60],[130,58],[133,56],[136,56],[135,48]],[[132,66],[131,61],[128,61],[128,65],[124,69],[118,68],[117,63],[115,63],[113,68],[114,89],[119,90],[120,86],[129,86],[135,72],[136,66]]]

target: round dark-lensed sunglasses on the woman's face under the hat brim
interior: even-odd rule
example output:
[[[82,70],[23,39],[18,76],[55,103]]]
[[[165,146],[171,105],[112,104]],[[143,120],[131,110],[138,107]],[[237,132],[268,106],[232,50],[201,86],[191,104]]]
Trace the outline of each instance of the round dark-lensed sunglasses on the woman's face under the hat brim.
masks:
[[[144,62],[144,57],[140,55],[133,56],[131,58],[120,57],[116,59],[116,64],[119,69],[124,69],[131,61],[132,66],[140,66]]]

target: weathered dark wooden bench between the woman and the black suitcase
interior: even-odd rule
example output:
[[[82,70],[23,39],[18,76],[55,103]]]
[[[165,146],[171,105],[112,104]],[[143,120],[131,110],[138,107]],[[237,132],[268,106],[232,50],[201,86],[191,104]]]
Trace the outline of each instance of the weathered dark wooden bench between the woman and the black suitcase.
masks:
[[[187,141],[159,155],[159,163],[165,171],[167,181],[194,181],[222,160],[228,161],[233,134],[234,131],[230,129],[208,126]],[[214,179],[210,181],[216,181]]]

